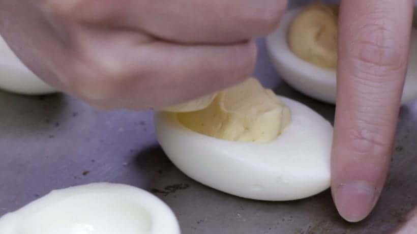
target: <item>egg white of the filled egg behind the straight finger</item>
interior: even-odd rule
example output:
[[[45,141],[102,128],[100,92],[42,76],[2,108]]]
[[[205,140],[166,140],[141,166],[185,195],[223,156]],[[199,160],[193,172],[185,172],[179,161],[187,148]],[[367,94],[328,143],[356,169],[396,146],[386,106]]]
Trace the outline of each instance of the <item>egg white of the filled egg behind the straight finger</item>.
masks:
[[[336,103],[336,71],[316,67],[297,57],[287,43],[288,28],[300,9],[288,11],[275,32],[266,38],[271,60],[282,78],[294,89],[327,103]],[[409,66],[401,103],[417,99],[417,30],[411,33]]]

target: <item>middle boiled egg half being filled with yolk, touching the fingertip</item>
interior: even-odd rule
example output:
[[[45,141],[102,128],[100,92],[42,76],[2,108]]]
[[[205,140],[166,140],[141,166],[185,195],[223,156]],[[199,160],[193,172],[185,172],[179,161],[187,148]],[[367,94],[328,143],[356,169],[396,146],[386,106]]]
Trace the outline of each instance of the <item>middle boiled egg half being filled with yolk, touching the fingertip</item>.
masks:
[[[331,124],[255,78],[159,111],[155,126],[171,161],[220,191],[282,201],[330,186]]]

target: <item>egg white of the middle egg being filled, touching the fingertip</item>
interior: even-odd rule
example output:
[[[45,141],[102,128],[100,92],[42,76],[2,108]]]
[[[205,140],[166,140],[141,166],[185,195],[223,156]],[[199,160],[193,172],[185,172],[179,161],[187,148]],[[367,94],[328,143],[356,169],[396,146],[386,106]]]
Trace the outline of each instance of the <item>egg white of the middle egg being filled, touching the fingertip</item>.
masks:
[[[236,142],[194,132],[175,113],[155,115],[166,155],[194,180],[240,197],[295,200],[330,186],[333,127],[304,104],[287,98],[291,124],[270,143]]]

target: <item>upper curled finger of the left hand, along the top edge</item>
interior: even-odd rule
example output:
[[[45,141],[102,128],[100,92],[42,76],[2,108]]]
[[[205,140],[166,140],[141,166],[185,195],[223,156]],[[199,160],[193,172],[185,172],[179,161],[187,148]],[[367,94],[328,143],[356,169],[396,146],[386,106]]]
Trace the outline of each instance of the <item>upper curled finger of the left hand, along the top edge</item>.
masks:
[[[85,22],[131,28],[166,41],[235,43],[275,28],[286,0],[45,0],[49,8]]]

